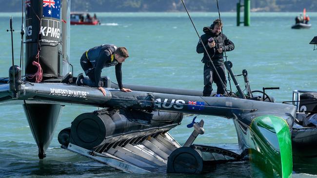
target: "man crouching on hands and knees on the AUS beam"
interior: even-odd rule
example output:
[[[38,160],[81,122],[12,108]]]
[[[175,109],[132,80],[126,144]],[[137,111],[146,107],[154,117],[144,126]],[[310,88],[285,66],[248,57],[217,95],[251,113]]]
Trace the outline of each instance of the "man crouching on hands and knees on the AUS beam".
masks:
[[[117,48],[114,45],[103,44],[89,49],[83,53],[80,58],[81,68],[89,78],[84,77],[83,74],[80,73],[77,77],[76,84],[98,87],[103,95],[105,95],[106,91],[102,88],[101,70],[106,67],[116,66],[116,78],[119,89],[124,92],[132,91],[122,86],[121,66],[128,57],[129,54],[125,47]]]

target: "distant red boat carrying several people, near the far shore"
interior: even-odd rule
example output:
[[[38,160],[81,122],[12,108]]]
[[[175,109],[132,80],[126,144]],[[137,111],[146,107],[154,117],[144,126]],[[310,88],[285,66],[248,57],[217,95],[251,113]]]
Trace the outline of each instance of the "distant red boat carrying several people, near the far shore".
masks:
[[[71,25],[99,25],[100,21],[96,17],[96,14],[91,17],[88,13],[71,13],[70,14]]]

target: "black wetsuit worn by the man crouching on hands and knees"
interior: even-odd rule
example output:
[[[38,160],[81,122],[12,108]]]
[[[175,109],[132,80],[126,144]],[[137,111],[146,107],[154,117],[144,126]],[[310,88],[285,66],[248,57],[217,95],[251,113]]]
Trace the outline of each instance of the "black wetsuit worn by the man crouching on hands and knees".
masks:
[[[80,58],[81,68],[89,77],[84,78],[83,84],[91,87],[102,87],[101,70],[105,67],[116,66],[116,78],[119,89],[122,89],[122,63],[115,59],[115,51],[117,47],[114,45],[103,44],[89,49],[82,54]]]

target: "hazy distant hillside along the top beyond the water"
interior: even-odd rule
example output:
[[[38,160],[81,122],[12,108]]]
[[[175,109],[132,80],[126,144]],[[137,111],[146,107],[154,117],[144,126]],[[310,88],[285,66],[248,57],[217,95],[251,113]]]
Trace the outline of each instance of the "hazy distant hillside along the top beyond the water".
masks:
[[[1,0],[0,12],[20,12],[22,0]],[[31,0],[32,1],[32,0]],[[56,1],[56,0],[55,0]],[[220,11],[236,11],[239,0],[218,0]],[[241,0],[243,3],[244,0]],[[217,11],[217,0],[184,0],[190,11]],[[252,11],[317,11],[317,0],[251,0]],[[87,12],[177,12],[181,0],[71,0],[71,11]]]

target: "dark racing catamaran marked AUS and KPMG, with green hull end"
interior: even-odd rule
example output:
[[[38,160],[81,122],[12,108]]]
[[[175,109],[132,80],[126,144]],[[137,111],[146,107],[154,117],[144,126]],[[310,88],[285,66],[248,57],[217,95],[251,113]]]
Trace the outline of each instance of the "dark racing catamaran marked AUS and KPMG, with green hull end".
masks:
[[[291,131],[298,110],[274,103],[264,89],[263,97],[253,96],[249,87],[244,94],[238,84],[238,97],[203,97],[197,90],[133,85],[129,88],[134,91],[125,93],[104,78],[103,96],[97,88],[61,83],[71,69],[69,4],[70,0],[25,2],[24,65],[13,61],[9,76],[0,80],[0,104],[23,106],[40,159],[46,156],[61,108],[87,105],[103,109],[82,113],[61,130],[61,147],[124,172],[203,173],[213,164],[248,159],[269,177],[292,176]],[[231,67],[227,61],[234,79]],[[246,71],[243,76],[248,84]],[[181,123],[183,113],[232,119],[239,151],[193,144],[198,135],[209,132],[203,120],[195,119],[188,125],[193,132],[181,146],[168,131]]]

